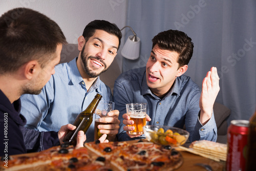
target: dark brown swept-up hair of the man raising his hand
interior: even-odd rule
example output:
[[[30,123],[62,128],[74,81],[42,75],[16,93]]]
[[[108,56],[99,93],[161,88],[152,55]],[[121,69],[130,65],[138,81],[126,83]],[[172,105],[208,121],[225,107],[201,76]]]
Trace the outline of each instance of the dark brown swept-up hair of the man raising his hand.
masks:
[[[163,50],[175,51],[179,54],[179,67],[187,65],[193,55],[194,44],[191,38],[179,30],[167,30],[158,33],[153,39],[152,49],[157,44]]]

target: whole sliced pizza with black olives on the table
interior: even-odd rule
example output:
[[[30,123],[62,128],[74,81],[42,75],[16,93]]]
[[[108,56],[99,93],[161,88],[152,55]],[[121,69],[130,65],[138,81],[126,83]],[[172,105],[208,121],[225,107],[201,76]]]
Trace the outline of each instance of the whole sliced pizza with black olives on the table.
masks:
[[[84,146],[62,144],[31,155],[14,155],[8,160],[8,169],[1,166],[0,170],[174,170],[183,163],[182,155],[169,145],[148,141],[97,140]]]

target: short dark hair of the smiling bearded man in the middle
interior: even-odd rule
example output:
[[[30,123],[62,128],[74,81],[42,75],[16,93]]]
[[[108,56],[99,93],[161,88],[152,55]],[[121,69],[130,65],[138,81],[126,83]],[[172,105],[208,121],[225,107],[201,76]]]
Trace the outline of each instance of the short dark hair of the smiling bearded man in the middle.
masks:
[[[86,26],[86,28],[84,28],[82,36],[84,37],[84,39],[86,41],[88,41],[89,38],[94,35],[96,30],[103,30],[109,34],[113,34],[113,35],[117,36],[119,39],[119,45],[118,45],[117,50],[119,49],[120,43],[121,43],[121,38],[122,38],[122,33],[121,33],[120,29],[115,24],[110,23],[105,20],[93,20]]]

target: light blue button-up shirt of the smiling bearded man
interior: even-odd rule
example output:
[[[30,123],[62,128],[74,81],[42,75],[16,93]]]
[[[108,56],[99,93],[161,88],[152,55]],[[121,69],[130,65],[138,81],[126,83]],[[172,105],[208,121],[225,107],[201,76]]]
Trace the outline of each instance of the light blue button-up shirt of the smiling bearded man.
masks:
[[[112,101],[111,89],[99,77],[89,91],[76,65],[77,58],[55,67],[46,86],[39,95],[23,95],[22,113],[27,127],[39,131],[59,131],[62,125],[73,123],[76,116],[86,110],[94,96]],[[89,127],[86,142],[94,141],[94,121]]]

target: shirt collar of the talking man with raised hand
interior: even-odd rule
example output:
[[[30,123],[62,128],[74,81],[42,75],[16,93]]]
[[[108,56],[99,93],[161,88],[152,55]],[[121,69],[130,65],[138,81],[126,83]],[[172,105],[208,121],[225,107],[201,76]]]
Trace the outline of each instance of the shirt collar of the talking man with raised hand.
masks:
[[[180,89],[179,89],[179,84],[180,84],[180,79],[179,77],[177,77],[174,81],[174,87],[172,88],[172,90],[170,90],[170,92],[165,96],[171,96],[173,95],[173,93],[176,93],[177,95],[180,95]],[[144,73],[144,77],[143,77],[143,80],[142,80],[142,95],[145,95],[145,94],[151,94],[152,96],[155,96],[150,88],[147,86],[147,83],[146,83],[146,72]]]

